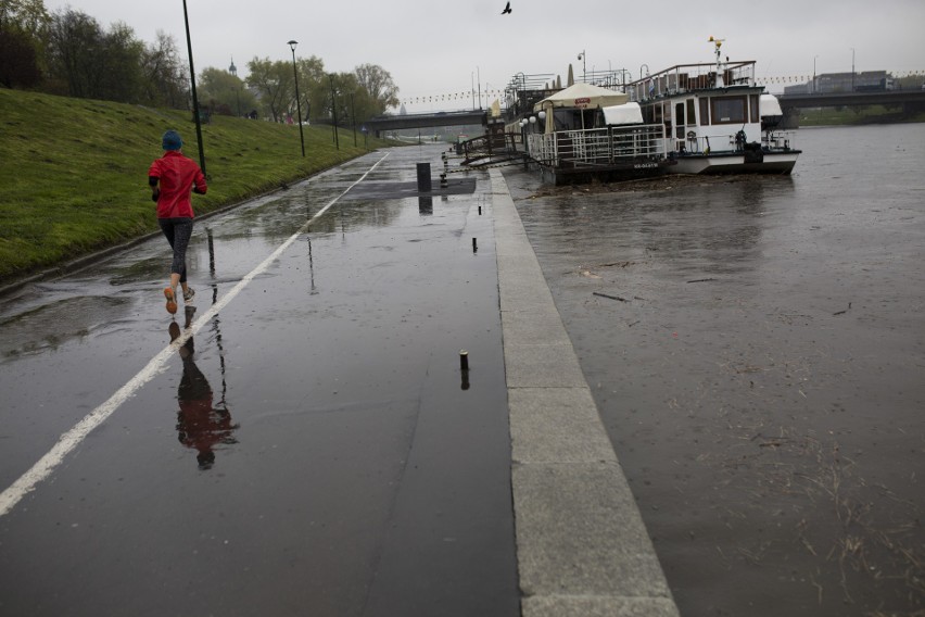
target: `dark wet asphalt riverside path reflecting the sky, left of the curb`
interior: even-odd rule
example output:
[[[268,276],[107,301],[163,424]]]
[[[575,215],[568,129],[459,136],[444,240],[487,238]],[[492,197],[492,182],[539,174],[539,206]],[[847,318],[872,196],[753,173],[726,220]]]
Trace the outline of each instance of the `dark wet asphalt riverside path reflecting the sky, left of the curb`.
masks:
[[[383,156],[199,221],[189,320],[161,238],[3,298],[4,489],[198,329],[0,517],[0,613],[519,614],[487,178]]]

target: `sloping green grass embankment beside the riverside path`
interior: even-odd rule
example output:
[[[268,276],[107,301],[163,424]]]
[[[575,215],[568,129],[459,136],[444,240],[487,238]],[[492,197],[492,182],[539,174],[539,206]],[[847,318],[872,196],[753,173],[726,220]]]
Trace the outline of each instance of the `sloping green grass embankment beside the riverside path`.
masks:
[[[189,112],[0,89],[0,285],[157,230],[148,167],[174,128],[199,161]],[[197,214],[264,193],[366,152],[330,126],[213,116],[203,125],[208,194]],[[369,139],[369,149],[388,144]]]

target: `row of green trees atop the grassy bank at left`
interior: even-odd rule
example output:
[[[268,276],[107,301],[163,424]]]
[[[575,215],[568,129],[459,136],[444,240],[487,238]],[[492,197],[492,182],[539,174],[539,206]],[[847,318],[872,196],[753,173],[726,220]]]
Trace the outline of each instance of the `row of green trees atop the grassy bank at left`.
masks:
[[[246,68],[245,79],[215,67],[197,75],[200,108],[275,122],[337,117],[349,125],[398,104],[392,76],[375,64],[334,74],[315,55],[294,67],[254,56]],[[192,109],[189,64],[173,36],[157,32],[155,41],[144,42],[124,23],[103,27],[69,7],[49,13],[43,0],[0,0],[0,87]]]

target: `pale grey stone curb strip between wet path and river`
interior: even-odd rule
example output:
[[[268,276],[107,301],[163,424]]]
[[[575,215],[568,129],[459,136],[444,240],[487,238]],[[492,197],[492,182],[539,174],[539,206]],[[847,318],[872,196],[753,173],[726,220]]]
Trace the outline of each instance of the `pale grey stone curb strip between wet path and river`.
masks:
[[[524,617],[679,617],[502,173],[492,169]]]

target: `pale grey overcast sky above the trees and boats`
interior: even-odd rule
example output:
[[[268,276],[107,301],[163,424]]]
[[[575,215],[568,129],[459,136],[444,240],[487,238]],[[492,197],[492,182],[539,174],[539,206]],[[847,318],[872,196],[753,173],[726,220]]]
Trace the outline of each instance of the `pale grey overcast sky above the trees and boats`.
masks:
[[[923,0],[187,0],[193,63],[238,75],[248,62],[315,55],[328,72],[360,64],[388,71],[409,112],[483,105],[518,74],[559,75],[625,68],[631,79],[675,64],[712,62],[710,36],[725,39],[732,61],[757,61],[759,78],[783,91],[818,74],[854,70],[925,76]],[[175,38],[187,59],[182,0],[114,2],[45,0],[69,7],[103,27],[123,22],[153,42],[159,30]],[[584,59],[578,55],[584,52]],[[791,80],[791,81],[788,81]],[[925,81],[925,77],[923,77]],[[436,100],[434,100],[436,99]]]

